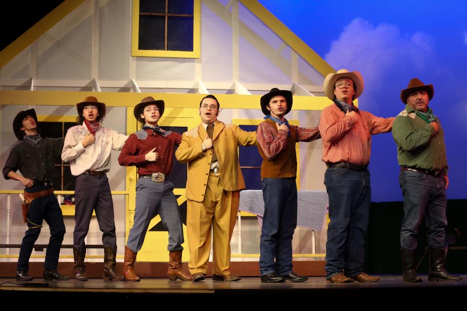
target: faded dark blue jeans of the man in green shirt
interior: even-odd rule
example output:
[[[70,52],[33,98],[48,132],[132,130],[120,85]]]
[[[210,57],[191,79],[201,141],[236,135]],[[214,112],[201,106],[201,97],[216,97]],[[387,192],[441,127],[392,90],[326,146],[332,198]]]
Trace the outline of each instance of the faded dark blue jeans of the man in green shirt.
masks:
[[[404,218],[400,227],[400,247],[417,248],[417,233],[425,215],[429,247],[445,247],[446,183],[443,176],[401,171],[399,183],[404,196]]]

